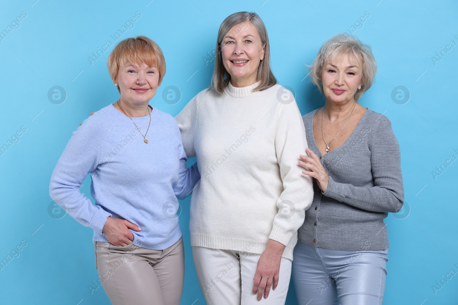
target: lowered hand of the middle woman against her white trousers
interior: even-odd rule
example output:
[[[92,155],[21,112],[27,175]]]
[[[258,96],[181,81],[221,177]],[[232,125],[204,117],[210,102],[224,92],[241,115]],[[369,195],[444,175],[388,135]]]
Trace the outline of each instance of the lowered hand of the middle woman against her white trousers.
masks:
[[[272,239],[267,241],[266,249],[259,258],[255,277],[253,278],[252,292],[253,294],[257,292],[258,301],[262,299],[262,294],[264,294],[264,299],[267,299],[271,287],[272,289],[277,288],[280,262],[284,249],[285,246],[278,241]]]

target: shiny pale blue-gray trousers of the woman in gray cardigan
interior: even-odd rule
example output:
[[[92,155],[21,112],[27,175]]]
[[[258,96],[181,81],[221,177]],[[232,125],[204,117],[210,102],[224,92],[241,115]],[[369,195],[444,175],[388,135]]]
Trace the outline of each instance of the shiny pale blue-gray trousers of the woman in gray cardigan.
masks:
[[[340,251],[294,248],[293,281],[299,305],[382,305],[388,248]]]

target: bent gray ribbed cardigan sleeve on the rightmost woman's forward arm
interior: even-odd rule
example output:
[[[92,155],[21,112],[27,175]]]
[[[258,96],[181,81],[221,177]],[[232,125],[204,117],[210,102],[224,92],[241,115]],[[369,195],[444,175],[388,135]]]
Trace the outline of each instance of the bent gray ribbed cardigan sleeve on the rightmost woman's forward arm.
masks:
[[[404,187],[401,154],[388,119],[380,122],[369,142],[374,187],[355,187],[329,177],[324,196],[372,212],[397,213],[402,208]]]

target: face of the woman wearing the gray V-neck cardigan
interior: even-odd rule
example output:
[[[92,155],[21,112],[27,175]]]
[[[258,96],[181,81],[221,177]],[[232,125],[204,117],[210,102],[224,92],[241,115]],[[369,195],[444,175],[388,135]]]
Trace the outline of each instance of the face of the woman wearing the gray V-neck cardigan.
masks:
[[[361,89],[361,64],[341,54],[330,58],[323,65],[321,83],[326,100],[334,103],[353,102],[354,94]]]

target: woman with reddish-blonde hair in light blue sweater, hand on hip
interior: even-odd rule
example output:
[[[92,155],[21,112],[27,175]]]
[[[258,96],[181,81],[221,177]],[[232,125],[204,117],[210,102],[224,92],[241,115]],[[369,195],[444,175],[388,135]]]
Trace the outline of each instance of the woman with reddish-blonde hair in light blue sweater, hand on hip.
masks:
[[[120,99],[73,133],[49,194],[94,230],[96,268],[112,304],[179,305],[184,248],[176,197],[191,193],[200,175],[196,164],[186,168],[174,118],[148,105],[165,74],[159,46],[127,38],[107,65]],[[79,191],[88,173],[95,205]]]

